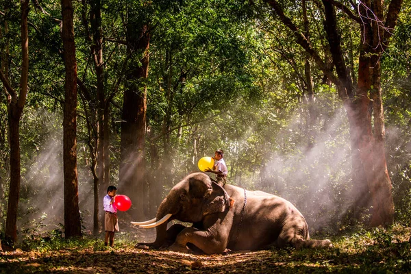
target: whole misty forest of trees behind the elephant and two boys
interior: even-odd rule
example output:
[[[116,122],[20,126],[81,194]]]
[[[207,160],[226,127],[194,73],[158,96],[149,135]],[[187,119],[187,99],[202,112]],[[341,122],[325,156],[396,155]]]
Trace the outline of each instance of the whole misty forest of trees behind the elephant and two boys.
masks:
[[[216,149],[313,235],[409,225],[409,0],[64,1],[72,32],[60,1],[0,1],[2,242],[64,232],[67,180],[73,236],[109,185],[151,219]]]

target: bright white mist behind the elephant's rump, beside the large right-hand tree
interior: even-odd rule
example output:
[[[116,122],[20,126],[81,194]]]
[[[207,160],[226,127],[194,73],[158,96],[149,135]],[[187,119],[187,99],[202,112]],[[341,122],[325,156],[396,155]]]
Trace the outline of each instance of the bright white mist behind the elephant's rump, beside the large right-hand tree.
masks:
[[[279,149],[269,155],[261,171],[262,190],[293,203],[306,217],[310,232],[338,229],[338,222],[351,206],[351,152],[345,110],[320,117],[303,138],[305,121],[293,119],[276,136]],[[308,142],[310,135],[312,145]]]

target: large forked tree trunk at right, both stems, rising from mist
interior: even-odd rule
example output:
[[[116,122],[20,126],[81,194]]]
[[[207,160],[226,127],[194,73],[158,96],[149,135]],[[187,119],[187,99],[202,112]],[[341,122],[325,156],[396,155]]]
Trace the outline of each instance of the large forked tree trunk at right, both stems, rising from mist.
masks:
[[[352,80],[349,77],[340,52],[340,42],[335,28],[336,14],[329,1],[323,0],[327,24],[325,28],[329,37],[334,64],[338,79],[343,82],[347,90],[351,89]],[[373,10],[378,18],[383,18],[382,3],[377,0],[364,1],[367,8]],[[358,67],[357,97],[352,98],[351,103],[346,103],[349,114],[351,149],[353,151],[353,182],[357,183],[353,190],[355,208],[373,206],[369,225],[390,225],[393,223],[394,204],[391,193],[391,181],[386,167],[384,151],[384,110],[382,108],[381,88],[379,75],[381,73],[380,58],[382,43],[380,34],[384,29],[365,14],[369,11],[360,5],[362,18],[361,51]],[[386,41],[384,41],[385,43]],[[387,42],[388,43],[388,42]],[[337,58],[336,58],[337,57]],[[348,95],[353,92],[347,92]],[[373,102],[369,98],[373,99]],[[372,116],[372,112],[374,112]],[[374,118],[374,123],[372,119]],[[374,127],[373,127],[374,124]],[[377,134],[377,138],[375,138]],[[377,141],[378,139],[378,141]],[[371,195],[370,195],[371,192]],[[358,218],[358,214],[356,214]]]

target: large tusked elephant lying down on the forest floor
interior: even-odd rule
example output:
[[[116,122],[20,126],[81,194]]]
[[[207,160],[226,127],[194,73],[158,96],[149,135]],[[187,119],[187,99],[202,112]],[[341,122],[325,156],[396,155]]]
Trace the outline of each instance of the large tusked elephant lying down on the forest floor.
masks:
[[[192,223],[192,227],[171,220]],[[156,227],[154,248],[206,254],[270,247],[332,247],[329,240],[310,240],[303,215],[289,201],[262,191],[219,186],[204,173],[192,173],[162,201],[155,219],[132,222]]]

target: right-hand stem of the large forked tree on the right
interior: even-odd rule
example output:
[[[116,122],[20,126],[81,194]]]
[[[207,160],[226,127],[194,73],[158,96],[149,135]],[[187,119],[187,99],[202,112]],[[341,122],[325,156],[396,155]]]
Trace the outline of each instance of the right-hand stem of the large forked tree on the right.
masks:
[[[364,6],[365,5],[365,6]],[[400,1],[392,1],[387,15],[385,27],[395,26]],[[382,1],[364,1],[360,5],[360,14],[368,14],[369,10],[377,18],[384,18]],[[395,15],[396,14],[396,15]],[[363,19],[362,35],[364,39],[360,51],[360,63],[358,68],[358,92],[363,101],[362,114],[366,115],[368,125],[360,136],[360,159],[364,165],[367,186],[371,192],[371,204],[373,214],[370,225],[390,225],[394,221],[394,203],[391,192],[391,179],[388,174],[385,157],[385,129],[384,108],[382,106],[381,88],[381,57],[384,48],[388,46],[390,32],[373,18]],[[388,33],[388,34],[387,34]],[[384,34],[381,36],[381,34]],[[371,98],[372,101],[369,99]],[[371,116],[372,114],[372,116]],[[373,121],[372,121],[373,119]],[[372,127],[372,122],[374,127]]]

